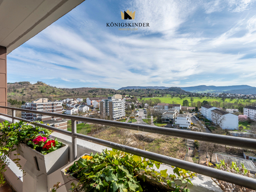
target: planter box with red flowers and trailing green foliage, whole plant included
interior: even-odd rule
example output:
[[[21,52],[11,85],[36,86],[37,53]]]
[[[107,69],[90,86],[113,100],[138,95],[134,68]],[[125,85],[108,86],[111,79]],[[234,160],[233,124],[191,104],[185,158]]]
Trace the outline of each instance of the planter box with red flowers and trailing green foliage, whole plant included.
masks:
[[[10,124],[5,121],[0,124],[0,132],[1,176],[9,163],[3,156],[10,157],[12,151],[17,151],[17,154],[14,154],[17,155],[17,158],[12,160],[20,169],[22,166],[19,165],[18,155],[21,155],[34,165],[38,172],[45,175],[49,175],[68,162],[68,146],[56,139],[52,140],[50,136],[52,131],[48,129],[33,126],[30,123]]]

